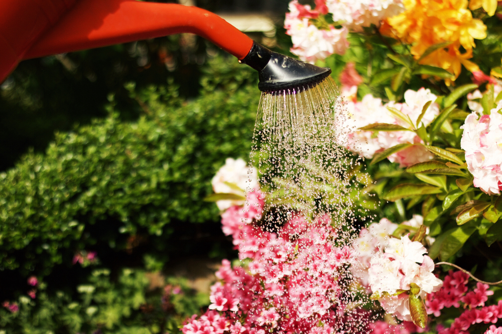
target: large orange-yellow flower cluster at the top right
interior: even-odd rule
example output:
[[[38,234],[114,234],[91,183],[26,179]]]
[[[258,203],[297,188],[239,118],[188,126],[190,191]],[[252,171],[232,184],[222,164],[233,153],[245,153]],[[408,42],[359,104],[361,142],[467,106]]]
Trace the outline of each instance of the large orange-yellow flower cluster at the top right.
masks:
[[[387,19],[381,27],[382,34],[411,44],[415,59],[432,45],[450,42],[423,58],[420,64],[447,70],[455,76],[452,81],[460,74],[461,65],[471,72],[479,71],[468,59],[476,46],[474,39],[486,38],[486,26],[472,18],[467,0],[404,0],[403,4],[406,11]],[[450,84],[450,80],[446,83]]]

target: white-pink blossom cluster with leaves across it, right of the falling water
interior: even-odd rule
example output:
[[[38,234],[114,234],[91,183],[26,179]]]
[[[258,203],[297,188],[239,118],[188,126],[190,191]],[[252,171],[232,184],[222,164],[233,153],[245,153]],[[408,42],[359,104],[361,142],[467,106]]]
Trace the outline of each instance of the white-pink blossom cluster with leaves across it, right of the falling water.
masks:
[[[344,90],[347,91],[342,86],[342,91]],[[353,90],[352,87],[348,89],[349,94],[353,94],[351,90]],[[413,144],[388,157],[391,162],[399,163],[400,167],[408,167],[434,158],[434,155],[425,147],[419,145],[424,142],[413,130],[421,126],[427,127],[439,115],[439,105],[434,102],[437,97],[429,89],[421,88],[416,92],[406,91],[404,99],[404,103],[390,102],[386,105],[382,104],[381,99],[370,94],[365,95],[360,102],[354,102],[351,99],[346,100],[345,118],[340,120],[338,125],[341,129],[345,129],[345,132],[340,131],[337,138],[338,144],[346,146],[350,151],[367,159],[371,159],[376,153],[398,144]],[[423,107],[429,101],[432,101],[431,105],[418,122]],[[388,107],[397,109],[409,121],[405,122],[396,117],[387,109]],[[374,123],[395,124],[410,131],[373,132],[358,130]]]

